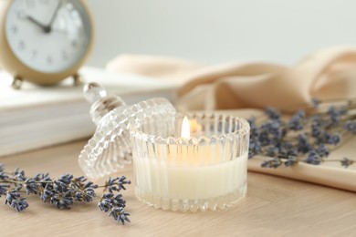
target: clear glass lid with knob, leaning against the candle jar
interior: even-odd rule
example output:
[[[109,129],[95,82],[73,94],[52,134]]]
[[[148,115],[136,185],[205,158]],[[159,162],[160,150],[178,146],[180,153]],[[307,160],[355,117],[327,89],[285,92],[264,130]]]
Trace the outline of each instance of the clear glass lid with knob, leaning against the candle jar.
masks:
[[[120,97],[108,96],[97,83],[87,84],[84,95],[91,103],[90,116],[97,129],[79,154],[79,166],[91,179],[110,175],[131,163],[130,128],[141,124],[144,115],[175,115],[175,108],[165,98],[127,106]]]

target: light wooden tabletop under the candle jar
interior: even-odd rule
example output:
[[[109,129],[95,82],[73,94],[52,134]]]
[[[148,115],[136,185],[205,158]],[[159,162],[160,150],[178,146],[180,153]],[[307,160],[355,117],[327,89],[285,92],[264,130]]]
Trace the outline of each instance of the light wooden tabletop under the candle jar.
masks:
[[[0,158],[6,169],[27,175],[50,172],[57,178],[82,175],[79,151],[85,141]],[[133,179],[132,167],[120,175]],[[131,184],[123,195],[131,223],[114,222],[96,203],[79,203],[60,211],[37,196],[17,213],[0,204],[0,236],[355,236],[356,195],[295,180],[248,173],[246,199],[224,211],[181,213],[155,210],[137,201]]]

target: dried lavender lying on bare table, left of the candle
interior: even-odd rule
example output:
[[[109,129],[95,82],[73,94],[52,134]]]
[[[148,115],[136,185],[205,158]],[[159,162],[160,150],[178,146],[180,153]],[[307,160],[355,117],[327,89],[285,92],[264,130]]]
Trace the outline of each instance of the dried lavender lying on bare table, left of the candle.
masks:
[[[39,173],[33,178],[26,177],[24,170],[16,169],[14,172],[5,172],[5,166],[0,164],[0,197],[5,195],[5,204],[10,205],[16,211],[25,211],[28,203],[21,197],[20,192],[37,194],[40,200],[49,202],[58,209],[70,209],[74,202],[90,202],[96,198],[95,190],[104,188],[109,194],[104,194],[98,206],[101,211],[109,212],[117,222],[124,224],[130,222],[129,212],[125,211],[126,201],[119,193],[126,190],[125,185],[131,184],[125,176],[109,179],[104,185],[99,186],[85,177],[74,178],[71,174],[64,174],[57,180],[49,177],[49,174]],[[114,192],[117,194],[114,195]],[[108,208],[105,208],[106,202]]]

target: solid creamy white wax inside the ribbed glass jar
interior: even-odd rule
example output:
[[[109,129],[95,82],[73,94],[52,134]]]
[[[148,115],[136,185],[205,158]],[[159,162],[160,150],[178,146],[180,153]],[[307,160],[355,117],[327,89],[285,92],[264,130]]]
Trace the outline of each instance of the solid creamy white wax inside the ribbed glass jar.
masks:
[[[206,166],[171,165],[166,161],[136,159],[136,186],[167,199],[208,199],[246,186],[247,154]]]

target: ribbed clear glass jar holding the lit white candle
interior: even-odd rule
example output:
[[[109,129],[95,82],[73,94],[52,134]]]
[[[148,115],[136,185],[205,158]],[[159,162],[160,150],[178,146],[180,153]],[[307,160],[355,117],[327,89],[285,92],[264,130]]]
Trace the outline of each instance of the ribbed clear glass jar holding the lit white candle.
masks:
[[[224,209],[246,196],[249,125],[223,114],[145,115],[131,129],[139,200],[171,211]],[[192,128],[194,127],[194,128]]]

